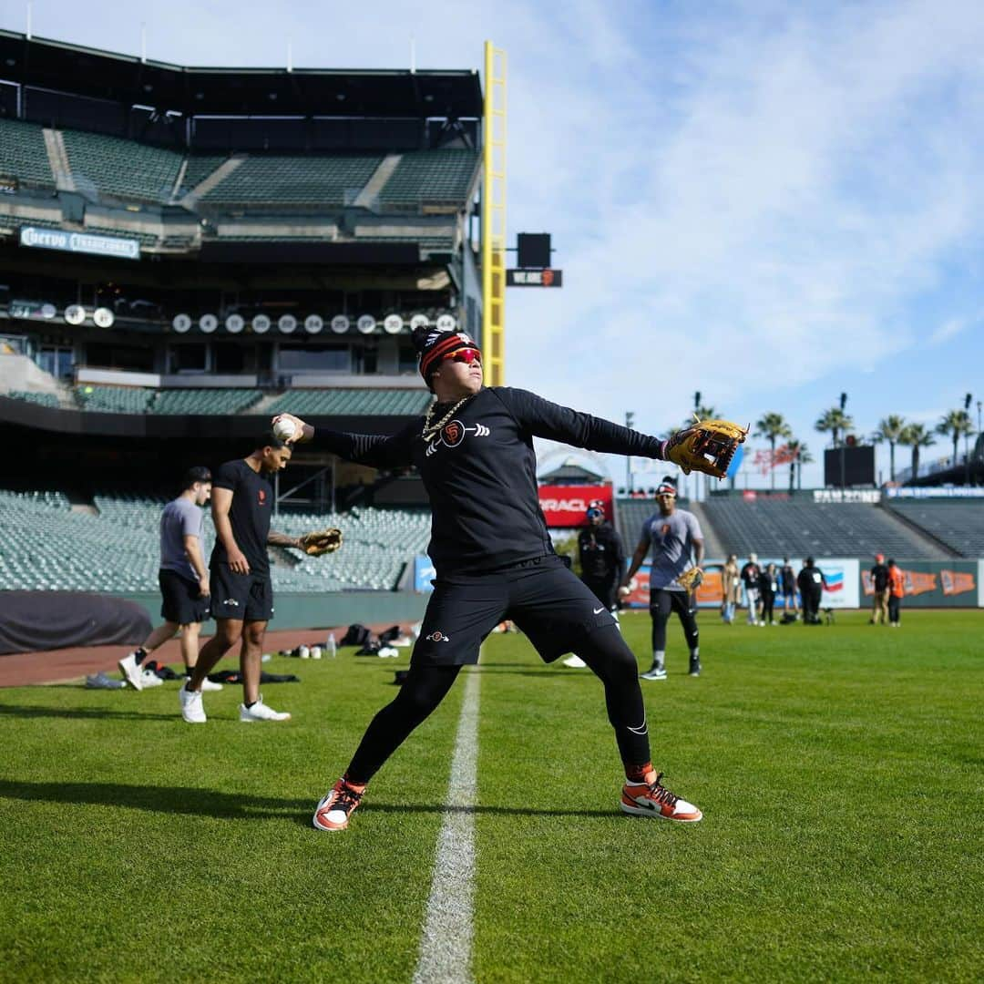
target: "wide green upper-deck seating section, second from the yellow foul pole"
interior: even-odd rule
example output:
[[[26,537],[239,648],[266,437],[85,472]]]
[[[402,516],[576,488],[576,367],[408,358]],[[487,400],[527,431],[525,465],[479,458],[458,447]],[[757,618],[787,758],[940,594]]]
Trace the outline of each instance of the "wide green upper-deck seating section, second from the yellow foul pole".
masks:
[[[204,205],[343,205],[354,200],[382,155],[247,157],[209,191]]]

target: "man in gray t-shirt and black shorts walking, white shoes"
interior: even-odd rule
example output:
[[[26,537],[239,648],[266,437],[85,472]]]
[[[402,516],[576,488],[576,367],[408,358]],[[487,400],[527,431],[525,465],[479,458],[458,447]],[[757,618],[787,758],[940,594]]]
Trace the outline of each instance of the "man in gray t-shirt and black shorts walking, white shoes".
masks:
[[[209,572],[202,550],[202,507],[212,495],[212,472],[204,465],[189,468],[181,494],[160,514],[160,584],[163,625],[119,661],[123,679],[136,690],[159,683],[154,672],[142,665],[157,646],[181,635],[181,656],[185,672],[198,662],[198,637],[202,622],[209,617]],[[221,690],[221,684],[207,682],[207,690]]]

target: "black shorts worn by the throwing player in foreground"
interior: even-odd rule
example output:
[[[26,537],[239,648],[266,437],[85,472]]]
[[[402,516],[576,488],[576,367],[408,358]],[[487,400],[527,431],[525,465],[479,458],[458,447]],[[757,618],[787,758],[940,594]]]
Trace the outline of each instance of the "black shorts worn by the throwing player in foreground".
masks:
[[[571,652],[595,629],[615,619],[558,557],[537,557],[505,571],[434,583],[411,665],[478,662],[478,648],[511,619],[544,662]]]

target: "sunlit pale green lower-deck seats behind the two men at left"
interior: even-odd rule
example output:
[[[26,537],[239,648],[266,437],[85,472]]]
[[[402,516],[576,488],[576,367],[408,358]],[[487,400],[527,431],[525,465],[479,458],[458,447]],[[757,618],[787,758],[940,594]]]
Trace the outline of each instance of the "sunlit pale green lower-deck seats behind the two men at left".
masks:
[[[0,590],[156,591],[163,500],[97,495],[93,501],[94,516],[72,512],[58,493],[0,490]],[[430,534],[424,509],[281,513],[274,521],[275,529],[293,535],[329,525],[343,530],[343,548],[325,557],[287,551],[295,563],[273,566],[276,590],[392,590]],[[204,539],[208,558],[215,542],[208,513]]]

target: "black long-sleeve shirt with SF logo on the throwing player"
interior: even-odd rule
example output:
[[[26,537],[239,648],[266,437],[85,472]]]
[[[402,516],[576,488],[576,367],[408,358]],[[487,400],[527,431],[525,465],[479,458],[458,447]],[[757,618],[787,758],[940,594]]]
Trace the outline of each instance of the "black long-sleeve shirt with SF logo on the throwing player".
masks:
[[[435,407],[437,422],[454,404]],[[441,430],[423,417],[389,436],[319,432],[318,442],[374,467],[414,464],[430,498],[428,553],[439,579],[510,567],[553,553],[536,490],[533,438],[613,455],[660,458],[638,431],[510,387],[483,388]]]

